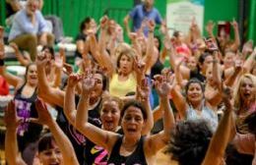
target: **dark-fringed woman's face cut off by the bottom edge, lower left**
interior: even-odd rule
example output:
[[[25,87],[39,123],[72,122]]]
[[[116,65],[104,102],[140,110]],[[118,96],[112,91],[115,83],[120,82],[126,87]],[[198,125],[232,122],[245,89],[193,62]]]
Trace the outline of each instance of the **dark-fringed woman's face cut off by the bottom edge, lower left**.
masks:
[[[39,161],[42,165],[61,165],[63,157],[59,147],[53,141],[53,148],[46,149],[38,153]]]

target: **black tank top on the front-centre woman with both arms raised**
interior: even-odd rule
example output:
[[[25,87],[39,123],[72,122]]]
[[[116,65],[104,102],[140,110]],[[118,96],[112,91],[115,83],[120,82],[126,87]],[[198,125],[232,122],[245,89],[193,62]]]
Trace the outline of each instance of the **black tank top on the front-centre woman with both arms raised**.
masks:
[[[112,152],[110,154],[110,157],[107,161],[107,164],[108,165],[122,165],[122,164],[126,164],[126,165],[132,165],[132,164],[147,165],[147,161],[146,161],[146,157],[145,157],[144,149],[143,149],[144,137],[140,138],[136,149],[129,156],[122,156],[119,153],[120,147],[121,147],[121,144],[122,144],[122,139],[123,139],[123,136],[120,136],[116,140],[116,142],[115,142],[115,144],[112,148]]]

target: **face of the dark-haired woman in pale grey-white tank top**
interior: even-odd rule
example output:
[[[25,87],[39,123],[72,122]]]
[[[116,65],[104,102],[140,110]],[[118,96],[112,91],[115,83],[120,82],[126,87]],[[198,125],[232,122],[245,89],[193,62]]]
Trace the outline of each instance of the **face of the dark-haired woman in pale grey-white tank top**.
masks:
[[[199,83],[190,83],[187,90],[187,99],[189,102],[199,102],[203,99],[204,93]]]

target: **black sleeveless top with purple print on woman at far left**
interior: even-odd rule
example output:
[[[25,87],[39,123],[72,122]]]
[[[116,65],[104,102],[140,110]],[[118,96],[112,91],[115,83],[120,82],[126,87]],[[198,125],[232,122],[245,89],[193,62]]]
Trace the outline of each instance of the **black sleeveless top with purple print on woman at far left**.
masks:
[[[24,86],[25,84],[16,91],[14,97],[17,115],[24,119],[37,118],[34,104],[37,98],[36,89],[34,89],[32,96],[27,98],[22,95]],[[29,143],[35,142],[39,138],[41,130],[41,125],[22,122],[17,130],[19,149],[23,151]]]

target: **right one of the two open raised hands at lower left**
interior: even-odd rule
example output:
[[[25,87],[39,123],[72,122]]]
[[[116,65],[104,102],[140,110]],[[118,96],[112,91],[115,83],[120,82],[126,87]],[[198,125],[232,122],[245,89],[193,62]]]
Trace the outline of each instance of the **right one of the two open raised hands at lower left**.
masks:
[[[36,101],[35,101],[35,109],[37,111],[38,118],[37,119],[31,118],[30,121],[32,123],[46,125],[46,126],[49,126],[50,124],[52,124],[53,119],[52,119],[46,105],[39,98],[36,99]]]

